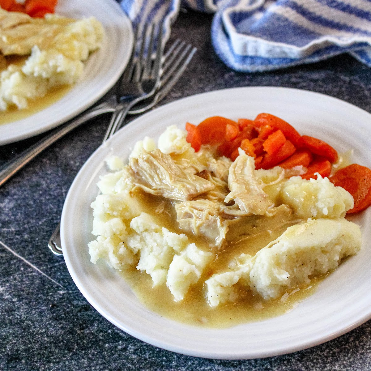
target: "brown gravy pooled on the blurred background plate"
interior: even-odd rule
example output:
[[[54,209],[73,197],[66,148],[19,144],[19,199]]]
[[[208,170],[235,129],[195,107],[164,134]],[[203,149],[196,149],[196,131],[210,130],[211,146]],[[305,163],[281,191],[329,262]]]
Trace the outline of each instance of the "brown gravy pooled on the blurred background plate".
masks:
[[[11,56],[6,57],[8,65],[13,63],[15,65],[23,65],[28,56]],[[65,96],[72,85],[63,85],[50,89],[44,97],[37,98],[35,100],[29,99],[27,101],[28,108],[18,109],[16,106],[8,109],[7,111],[0,112],[0,125],[9,124],[9,122],[22,120],[31,115],[36,114],[37,112],[42,111],[43,109],[51,106],[53,103],[59,101],[63,96]]]

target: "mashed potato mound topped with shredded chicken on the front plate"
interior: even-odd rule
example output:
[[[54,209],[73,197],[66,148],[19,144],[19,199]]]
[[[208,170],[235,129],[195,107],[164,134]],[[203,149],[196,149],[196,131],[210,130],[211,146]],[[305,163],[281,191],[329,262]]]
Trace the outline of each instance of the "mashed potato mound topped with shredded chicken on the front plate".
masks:
[[[263,299],[279,298],[359,251],[359,226],[344,219],[353,199],[343,188],[321,176],[292,176],[302,174],[302,167],[255,170],[244,153],[234,163],[210,146],[195,153],[185,137],[173,125],[157,145],[148,137],[137,142],[129,165],[116,157],[107,160],[114,172],[100,179],[102,194],[91,205],[97,236],[89,243],[92,263],[101,258],[116,269],[136,267],[150,275],[153,286],[167,287],[176,302],[205,283],[207,302],[215,308],[236,301],[241,287]],[[184,174],[194,184],[182,186]],[[204,193],[195,193],[193,186],[201,185]],[[156,195],[147,201],[157,205],[154,211],[142,202],[144,193]],[[265,210],[245,210],[237,202],[252,199],[265,200]],[[233,254],[235,240],[275,228],[284,232],[255,255]],[[232,240],[226,239],[228,230]],[[232,258],[221,261],[219,253],[227,250]]]

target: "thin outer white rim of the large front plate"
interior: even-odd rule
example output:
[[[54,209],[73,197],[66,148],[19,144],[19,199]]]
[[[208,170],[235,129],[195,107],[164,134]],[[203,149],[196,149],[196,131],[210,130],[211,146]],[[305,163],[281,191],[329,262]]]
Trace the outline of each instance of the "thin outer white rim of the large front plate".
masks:
[[[340,104],[349,105],[349,107],[352,107],[352,109],[357,109],[360,114],[363,114],[363,115],[366,114],[366,115],[370,116],[370,118],[371,118],[370,112],[367,112],[364,109],[362,109],[362,108],[360,108],[358,106],[355,106],[355,105],[353,105],[353,104],[351,104],[349,102],[346,102],[346,101],[344,101],[342,99],[339,99],[339,98],[336,98],[336,97],[333,97],[333,96],[326,95],[324,93],[318,93],[318,92],[309,91],[309,90],[305,90],[305,89],[286,88],[286,87],[282,87],[282,86],[243,86],[243,87],[235,87],[235,88],[217,89],[217,90],[214,90],[214,91],[198,93],[198,94],[195,94],[195,95],[187,96],[185,98],[177,99],[175,101],[172,101],[172,102],[169,102],[169,103],[167,103],[165,105],[162,105],[162,106],[156,108],[155,110],[152,110],[150,112],[147,112],[144,115],[139,116],[138,118],[134,119],[133,121],[131,121],[127,125],[125,125],[125,127],[123,127],[122,129],[120,129],[106,143],[105,146],[98,147],[97,150],[95,152],[93,152],[93,154],[91,155],[91,157],[98,155],[99,152],[102,151],[102,148],[109,147],[110,142],[112,140],[114,140],[114,138],[117,138],[119,135],[121,135],[120,133],[122,131],[125,131],[126,128],[129,128],[129,127],[134,126],[137,123],[137,121],[141,121],[144,116],[147,117],[147,116],[152,115],[154,111],[161,112],[161,111],[167,109],[169,105],[177,104],[180,101],[185,102],[187,100],[195,99],[195,98],[197,98],[199,96],[210,95],[210,94],[217,93],[217,92],[228,92],[228,91],[231,91],[231,90],[241,90],[241,91],[243,91],[245,89],[249,89],[249,90],[251,90],[251,89],[263,89],[263,90],[274,89],[274,90],[278,90],[278,91],[293,91],[293,92],[299,92],[299,93],[309,93],[309,94],[313,94],[313,95],[321,95],[321,96],[326,97],[326,99],[334,99],[334,101],[337,101]],[[64,256],[64,259],[65,259],[65,262],[66,262],[66,266],[68,267],[69,273],[70,273],[73,281],[75,282],[76,286],[81,291],[81,293],[83,294],[83,296],[86,298],[86,300],[88,300],[88,302],[102,316],[104,316],[104,318],[108,319],[108,321],[110,321],[116,327],[118,327],[118,328],[122,329],[123,331],[127,332],[129,335],[132,335],[135,338],[137,338],[139,340],[142,340],[142,341],[145,341],[148,344],[154,345],[156,347],[159,347],[159,348],[162,348],[162,349],[166,349],[166,350],[172,351],[172,352],[177,352],[179,354],[194,356],[194,357],[210,358],[210,359],[255,359],[255,358],[266,358],[266,357],[273,357],[273,356],[276,356],[276,355],[288,354],[288,353],[300,351],[300,350],[303,350],[303,349],[311,348],[311,347],[314,347],[314,346],[319,345],[319,344],[323,344],[324,342],[330,341],[332,339],[337,338],[338,336],[344,335],[345,333],[351,331],[352,329],[358,327],[359,325],[361,325],[361,324],[365,323],[366,321],[368,321],[369,319],[371,319],[371,309],[370,309],[370,312],[365,313],[363,315],[358,315],[354,320],[349,321],[349,323],[347,324],[347,326],[345,326],[344,328],[341,328],[341,329],[339,329],[337,331],[333,331],[333,332],[331,332],[331,333],[329,333],[329,334],[327,334],[325,336],[319,336],[318,338],[316,338],[314,340],[311,340],[311,341],[306,341],[305,339],[303,339],[301,342],[298,342],[295,345],[290,345],[290,346],[284,347],[284,348],[282,348],[280,350],[278,350],[278,349],[273,350],[273,351],[272,350],[268,350],[268,351],[262,350],[260,352],[256,352],[255,351],[254,354],[249,354],[248,351],[246,351],[243,354],[242,353],[231,354],[230,352],[229,353],[226,353],[226,354],[224,354],[224,353],[223,354],[220,354],[219,352],[214,352],[214,353],[207,352],[206,353],[206,352],[201,351],[201,350],[190,350],[189,351],[187,349],[184,349],[181,346],[170,344],[170,343],[168,343],[166,341],[161,341],[161,340],[158,340],[158,339],[154,339],[151,336],[147,336],[146,334],[138,334],[138,332],[135,332],[135,330],[131,329],[128,326],[125,326],[125,325],[119,323],[118,321],[116,321],[115,318],[112,318],[111,315],[109,315],[108,313],[105,313],[105,311],[101,308],[101,306],[99,305],[99,303],[97,303],[95,301],[95,299],[92,298],[89,295],[89,293],[87,292],[87,290],[85,289],[85,287],[81,284],[78,275],[73,270],[72,262],[70,261],[70,257],[69,257],[69,253],[68,253],[68,249],[66,250],[66,233],[67,233],[67,231],[65,229],[65,219],[66,219],[66,215],[68,213],[68,210],[67,210],[67,206],[66,205],[68,205],[70,198],[72,198],[72,191],[71,190],[73,190],[73,187],[75,187],[75,185],[78,183],[78,177],[79,177],[80,174],[83,173],[83,171],[85,170],[85,167],[88,166],[88,162],[91,159],[91,157],[89,157],[89,159],[85,162],[85,164],[83,165],[83,167],[80,169],[80,171],[76,175],[75,179],[73,180],[73,183],[70,186],[70,189],[69,189],[68,194],[66,196],[65,203],[63,205],[62,219],[61,219],[61,242],[62,242],[62,249],[65,250],[65,253],[64,253],[63,256]],[[173,320],[170,320],[170,321],[173,321]],[[174,321],[174,322],[175,323],[178,323],[176,321]],[[184,326],[189,326],[189,325],[184,325]],[[210,329],[206,328],[206,330],[213,331],[214,329],[212,329],[212,328],[210,328]],[[218,329],[216,329],[216,330],[218,330]]]

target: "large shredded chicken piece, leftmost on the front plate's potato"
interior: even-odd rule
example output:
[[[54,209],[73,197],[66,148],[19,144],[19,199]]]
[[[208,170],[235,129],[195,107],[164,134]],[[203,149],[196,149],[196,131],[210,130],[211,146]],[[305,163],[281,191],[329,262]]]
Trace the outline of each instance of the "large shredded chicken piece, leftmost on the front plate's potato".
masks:
[[[160,150],[142,150],[138,158],[129,159],[128,173],[135,188],[155,196],[176,201],[187,201],[210,191],[215,185],[177,165]]]

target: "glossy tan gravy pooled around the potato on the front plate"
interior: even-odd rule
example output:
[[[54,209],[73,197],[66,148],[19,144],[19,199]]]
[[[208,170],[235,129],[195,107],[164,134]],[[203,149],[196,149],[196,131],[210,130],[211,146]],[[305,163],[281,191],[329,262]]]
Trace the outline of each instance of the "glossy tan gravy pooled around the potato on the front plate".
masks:
[[[171,232],[184,233],[177,226],[175,211],[170,201],[150,194],[136,194],[135,196],[141,198],[145,212],[151,214],[157,223]],[[296,288],[283,295],[280,299],[269,301],[265,301],[258,295],[253,295],[250,290],[240,286],[238,288],[240,297],[236,302],[227,302],[216,308],[210,308],[206,302],[204,281],[214,273],[225,269],[233,259],[233,256],[240,253],[254,255],[270,241],[280,236],[289,225],[291,224],[286,224],[270,233],[266,231],[229,243],[223,251],[217,253],[214,262],[205,269],[198,283],[191,286],[181,302],[174,301],[166,285],[152,288],[151,277],[145,272],[140,272],[133,268],[123,271],[121,274],[144,306],[161,316],[185,324],[227,328],[282,315],[295,308],[303,299],[311,295],[324,277],[313,278],[310,285]],[[193,235],[187,235],[190,242],[196,243],[201,248],[207,248],[207,244],[201,238],[197,239]]]

